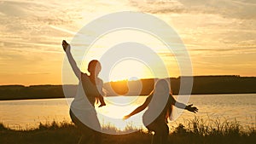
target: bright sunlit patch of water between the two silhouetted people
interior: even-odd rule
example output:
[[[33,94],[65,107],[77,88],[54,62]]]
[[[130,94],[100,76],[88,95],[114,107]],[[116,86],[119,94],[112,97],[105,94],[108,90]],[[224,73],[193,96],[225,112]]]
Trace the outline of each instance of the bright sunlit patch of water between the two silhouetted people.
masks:
[[[143,128],[143,112],[137,113],[126,120],[123,117],[133,111],[138,105],[144,101],[142,96],[119,96],[105,97],[105,107],[97,107],[97,116],[102,124],[102,127],[113,126],[118,130],[125,130],[133,127],[134,129]]]

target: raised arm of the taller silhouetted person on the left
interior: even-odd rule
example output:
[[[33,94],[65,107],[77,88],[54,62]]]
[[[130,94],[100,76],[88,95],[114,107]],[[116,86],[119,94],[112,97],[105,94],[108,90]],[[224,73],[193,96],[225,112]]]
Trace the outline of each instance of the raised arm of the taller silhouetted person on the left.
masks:
[[[63,47],[64,51],[67,54],[67,60],[69,61],[69,64],[73,69],[73,72],[75,73],[77,78],[81,79],[81,71],[80,71],[79,67],[77,66],[77,63],[73,59],[73,56],[70,52],[70,45],[65,40],[63,40],[62,41],[62,47]]]

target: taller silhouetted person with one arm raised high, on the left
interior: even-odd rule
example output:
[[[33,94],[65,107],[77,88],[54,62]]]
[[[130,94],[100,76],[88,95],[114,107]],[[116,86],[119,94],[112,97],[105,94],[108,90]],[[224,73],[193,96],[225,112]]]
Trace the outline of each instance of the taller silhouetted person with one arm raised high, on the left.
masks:
[[[102,97],[104,95],[102,91],[103,82],[101,78],[98,78],[102,69],[101,63],[98,60],[91,60],[88,65],[88,72],[90,72],[88,76],[79,70],[70,52],[71,47],[65,40],[62,41],[62,47],[67,54],[73,72],[79,78],[77,93],[70,107],[70,117],[82,134],[79,144],[90,142],[90,138],[93,136],[95,137],[95,143],[101,144],[102,129],[94,107],[96,100],[101,102],[99,107],[106,106]]]

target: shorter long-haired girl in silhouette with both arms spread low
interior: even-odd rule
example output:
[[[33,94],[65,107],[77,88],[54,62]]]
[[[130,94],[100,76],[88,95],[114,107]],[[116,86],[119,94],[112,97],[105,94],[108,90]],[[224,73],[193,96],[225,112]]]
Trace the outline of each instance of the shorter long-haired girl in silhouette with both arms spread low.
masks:
[[[164,98],[166,97],[166,99]],[[154,90],[148,95],[143,105],[137,107],[133,112],[126,115],[124,119],[130,118],[132,115],[142,112],[146,107],[148,109],[143,113],[143,124],[149,131],[154,131],[153,144],[166,144],[169,127],[167,125],[168,118],[172,113],[172,106],[185,108],[189,112],[197,112],[193,105],[186,106],[183,103],[177,102],[170,93],[170,87],[166,80],[160,79],[154,86]]]

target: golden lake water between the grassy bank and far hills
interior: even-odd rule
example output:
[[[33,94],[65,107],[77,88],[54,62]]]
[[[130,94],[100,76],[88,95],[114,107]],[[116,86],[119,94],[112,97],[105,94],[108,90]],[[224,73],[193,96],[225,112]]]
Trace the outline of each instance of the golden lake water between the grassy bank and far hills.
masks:
[[[143,128],[142,113],[127,120],[122,120],[125,114],[143,104],[146,96],[117,96],[107,97],[106,107],[96,108],[102,125],[114,125],[122,130],[125,126],[133,125]],[[0,123],[15,130],[26,130],[38,127],[40,123],[70,122],[69,105],[73,99],[42,99],[0,101]],[[189,104],[198,107],[199,112],[183,111],[169,126],[172,129],[177,124],[185,124],[190,119],[202,118],[204,121],[235,120],[243,128],[256,126],[256,94],[239,95],[191,95]],[[175,113],[176,110],[174,110]],[[111,119],[112,120],[111,120]],[[115,120],[113,120],[115,119]]]

